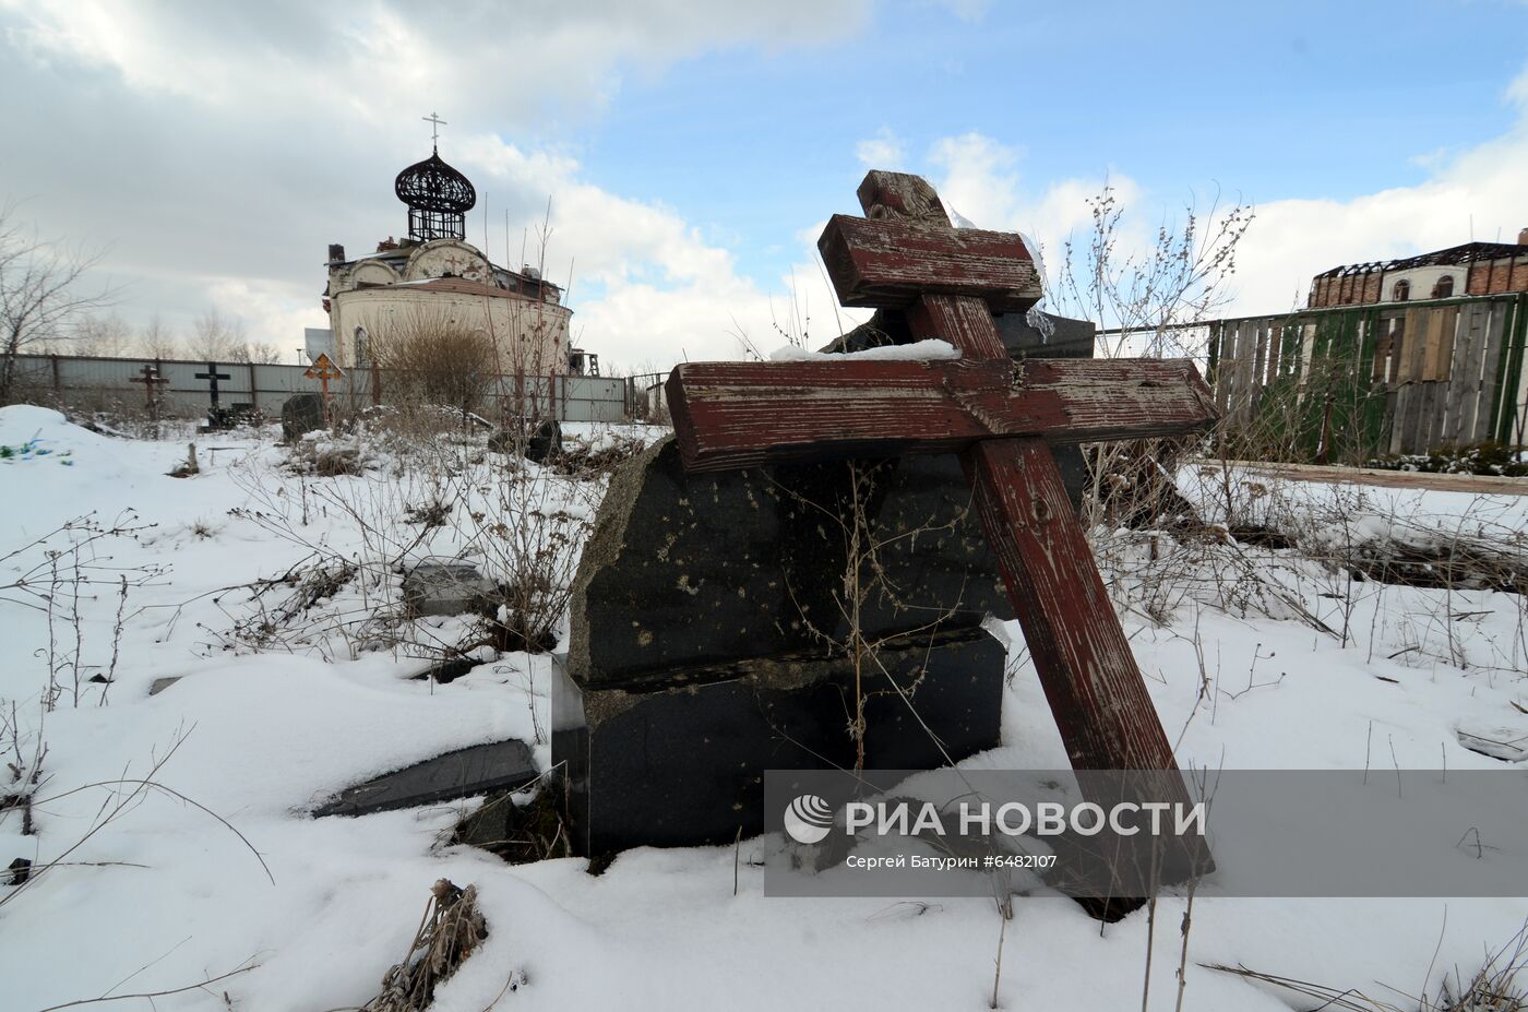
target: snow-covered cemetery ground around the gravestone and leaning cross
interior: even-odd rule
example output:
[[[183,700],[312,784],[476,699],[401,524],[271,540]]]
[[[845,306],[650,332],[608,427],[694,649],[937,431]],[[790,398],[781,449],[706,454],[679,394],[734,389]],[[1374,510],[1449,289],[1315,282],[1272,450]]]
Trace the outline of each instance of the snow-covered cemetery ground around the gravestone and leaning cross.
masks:
[[[741,864],[730,847],[634,850],[590,876],[581,859],[509,865],[445,845],[472,803],[312,818],[315,803],[368,775],[510,735],[535,741],[549,726],[544,656],[503,654],[431,688],[410,677],[423,660],[377,648],[364,619],[344,619],[396,590],[382,570],[365,570],[370,589],[358,579],[359,589],[335,595],[344,601],[316,601],[335,622],[310,634],[263,645],[235,634],[240,622],[249,630],[252,581],[304,560],[377,550],[347,503],[420,504],[422,491],[410,491],[393,462],[361,477],[296,475],[269,439],[215,436],[197,440],[202,472],[174,478],[167,472],[185,460],[185,440],[108,437],[28,407],[0,410],[0,446],[12,449],[0,456],[0,697],[17,728],[3,743],[6,761],[29,769],[46,746],[35,833],[23,835],[15,810],[0,816],[0,862],[61,862],[23,888],[0,888],[5,1009],[170,991],[243,968],[154,1007],[358,1006],[405,955],[439,877],[477,885],[490,933],[437,992],[443,1012],[478,1012],[495,997],[500,1009],[558,1010],[989,1007],[1001,923],[990,900],[769,899],[750,858],[778,850],[778,838],[744,841]],[[1199,477],[1186,475],[1184,491],[1221,501],[1224,485]],[[562,509],[593,508],[573,480],[542,478]],[[405,491],[387,501],[336,492],[387,482]],[[1300,501],[1254,478],[1236,495],[1238,508]],[[1371,534],[1528,526],[1528,498],[1371,489],[1354,500],[1342,498],[1358,495],[1352,489],[1314,485],[1299,495]],[[78,526],[58,530],[87,514],[124,532],[49,563],[46,552],[89,537]],[[429,547],[457,535],[442,529],[442,546]],[[1183,763],[1499,769],[1464,749],[1458,731],[1528,735],[1525,616],[1514,595],[1355,589],[1311,563],[1262,566],[1270,556],[1251,550],[1218,563],[1218,579],[1174,582],[1154,573],[1180,572],[1169,564],[1175,549],[1160,543],[1155,563],[1146,552],[1138,537],[1111,544],[1105,572]],[[86,576],[78,642],[60,621],[64,602],[50,628],[37,598],[8,589],[23,572],[49,578],[52,566],[67,578],[76,558]],[[1203,569],[1187,555],[1178,563],[1184,573]],[[1063,767],[1016,624],[1005,633],[1016,674],[1004,744],[969,766]],[[44,709],[50,667],[61,674]],[[107,673],[108,686],[89,680]],[[177,676],[150,696],[157,679]],[[536,755],[547,761],[544,741]],[[134,783],[144,778],[156,786]],[[1181,896],[1167,896],[1158,910],[1152,1009],[1177,1001],[1183,908]],[[1375,981],[1418,994],[1444,972],[1468,977],[1525,917],[1522,899],[1251,900],[1207,890],[1193,907],[1183,1007],[1317,1004],[1291,1006],[1201,963],[1392,1000]],[[1100,926],[1071,900],[1021,900],[1004,934],[998,1004],[1140,1007],[1146,951],[1143,913]],[[504,992],[516,972],[524,983]]]

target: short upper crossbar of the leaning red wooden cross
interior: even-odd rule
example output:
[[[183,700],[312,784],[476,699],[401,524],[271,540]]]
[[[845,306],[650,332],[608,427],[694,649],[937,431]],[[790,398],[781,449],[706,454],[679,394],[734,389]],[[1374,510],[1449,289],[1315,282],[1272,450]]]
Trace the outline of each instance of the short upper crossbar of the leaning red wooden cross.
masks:
[[[927,294],[973,295],[1012,313],[1041,298],[1039,271],[1012,232],[834,214],[817,251],[845,306],[903,309]]]

